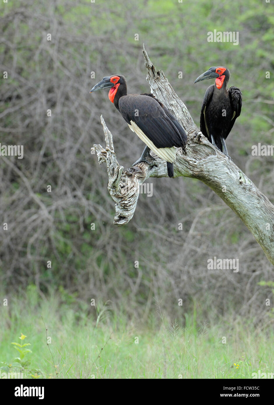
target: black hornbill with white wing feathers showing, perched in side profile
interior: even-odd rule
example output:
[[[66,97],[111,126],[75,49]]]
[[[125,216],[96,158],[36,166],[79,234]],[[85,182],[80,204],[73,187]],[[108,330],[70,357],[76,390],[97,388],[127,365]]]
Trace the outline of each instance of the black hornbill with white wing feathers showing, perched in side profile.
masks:
[[[186,133],[177,119],[153,94],[127,94],[126,79],[121,75],[104,77],[90,93],[107,87],[111,87],[109,100],[120,111],[129,128],[147,145],[141,158],[133,165],[147,162],[151,166],[146,160],[151,149],[167,161],[167,173],[173,177],[176,147],[184,148],[187,143]]]

